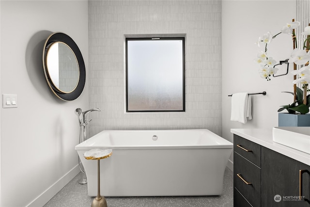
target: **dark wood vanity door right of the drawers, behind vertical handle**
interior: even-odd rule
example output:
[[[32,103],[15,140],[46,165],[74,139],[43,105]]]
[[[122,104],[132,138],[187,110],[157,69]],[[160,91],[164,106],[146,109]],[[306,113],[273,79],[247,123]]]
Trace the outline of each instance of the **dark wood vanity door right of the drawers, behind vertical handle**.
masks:
[[[261,176],[262,207],[310,207],[309,165],[262,146]],[[305,200],[299,200],[299,190]],[[279,202],[275,201],[276,195],[281,196]]]

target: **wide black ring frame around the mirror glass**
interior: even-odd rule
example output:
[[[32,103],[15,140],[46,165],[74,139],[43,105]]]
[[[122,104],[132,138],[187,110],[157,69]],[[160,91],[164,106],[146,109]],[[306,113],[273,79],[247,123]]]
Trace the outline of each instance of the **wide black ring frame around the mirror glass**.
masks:
[[[55,42],[63,42],[66,45],[68,45],[72,51],[75,53],[77,60],[78,60],[78,68],[79,68],[79,80],[78,85],[75,90],[73,90],[70,93],[63,93],[60,90],[57,89],[57,87],[53,84],[51,81],[51,78],[48,74],[47,70],[47,53],[50,46]],[[48,38],[47,41],[44,44],[43,48],[43,68],[44,68],[44,74],[45,78],[47,80],[47,84],[49,88],[52,90],[52,92],[59,97],[62,100],[65,101],[72,101],[78,98],[78,96],[81,95],[84,86],[85,86],[85,80],[86,80],[86,71],[85,71],[85,64],[83,60],[83,56],[81,51],[78,48],[78,45],[74,42],[74,40],[69,37],[68,35],[62,33],[62,32],[55,32],[52,33]]]

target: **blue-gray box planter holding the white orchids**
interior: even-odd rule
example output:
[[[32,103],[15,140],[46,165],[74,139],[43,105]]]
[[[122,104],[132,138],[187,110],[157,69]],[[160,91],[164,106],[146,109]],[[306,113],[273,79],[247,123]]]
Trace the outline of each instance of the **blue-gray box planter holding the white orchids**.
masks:
[[[310,127],[310,114],[279,113],[279,127]]]

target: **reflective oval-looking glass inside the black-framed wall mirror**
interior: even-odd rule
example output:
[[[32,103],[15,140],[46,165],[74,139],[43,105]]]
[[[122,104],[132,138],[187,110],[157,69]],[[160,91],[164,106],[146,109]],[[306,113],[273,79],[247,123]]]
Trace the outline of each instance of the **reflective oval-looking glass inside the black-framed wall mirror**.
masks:
[[[78,60],[63,42],[54,42],[47,52],[47,71],[53,85],[62,93],[71,93],[79,80]]]

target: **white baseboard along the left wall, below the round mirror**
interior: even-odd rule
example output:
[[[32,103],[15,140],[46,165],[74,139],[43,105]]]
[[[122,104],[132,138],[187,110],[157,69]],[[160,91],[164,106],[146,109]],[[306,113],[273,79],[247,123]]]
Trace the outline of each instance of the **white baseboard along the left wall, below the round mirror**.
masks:
[[[67,185],[80,172],[78,165],[63,175],[52,186],[35,198],[27,207],[43,207],[52,197]]]

